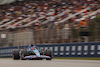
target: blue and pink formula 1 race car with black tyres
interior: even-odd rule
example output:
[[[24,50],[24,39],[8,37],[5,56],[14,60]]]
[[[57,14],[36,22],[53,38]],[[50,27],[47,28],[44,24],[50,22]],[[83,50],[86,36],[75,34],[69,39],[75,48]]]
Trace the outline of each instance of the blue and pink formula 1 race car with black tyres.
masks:
[[[29,45],[27,49],[22,50],[13,50],[13,59],[14,60],[26,60],[26,59],[46,59],[51,60],[52,59],[52,51],[50,49],[46,49],[43,51],[42,49],[37,48],[37,46]]]

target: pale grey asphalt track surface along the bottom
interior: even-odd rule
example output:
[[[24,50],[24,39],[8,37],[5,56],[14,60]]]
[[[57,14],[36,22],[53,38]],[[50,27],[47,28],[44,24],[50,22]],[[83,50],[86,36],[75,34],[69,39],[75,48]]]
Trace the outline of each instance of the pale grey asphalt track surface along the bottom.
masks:
[[[13,60],[0,59],[0,67],[100,67],[96,60]]]

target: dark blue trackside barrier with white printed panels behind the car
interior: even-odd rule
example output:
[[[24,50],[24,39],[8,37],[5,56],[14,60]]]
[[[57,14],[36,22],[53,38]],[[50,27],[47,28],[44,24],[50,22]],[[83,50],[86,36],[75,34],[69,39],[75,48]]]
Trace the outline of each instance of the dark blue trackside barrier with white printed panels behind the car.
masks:
[[[40,44],[37,46],[39,49],[51,49],[54,57],[100,57],[100,42]],[[20,48],[23,47],[20,46]],[[0,57],[12,57],[14,49],[18,49],[18,46],[0,48]]]

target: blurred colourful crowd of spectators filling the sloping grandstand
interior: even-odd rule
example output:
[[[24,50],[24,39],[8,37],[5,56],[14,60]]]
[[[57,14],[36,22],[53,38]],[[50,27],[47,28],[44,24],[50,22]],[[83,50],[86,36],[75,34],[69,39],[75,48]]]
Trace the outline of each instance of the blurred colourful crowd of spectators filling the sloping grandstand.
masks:
[[[87,7],[90,9],[59,24],[59,21]],[[88,18],[85,16],[98,9],[100,9],[100,0],[31,0],[0,5],[0,29],[25,26],[34,29],[64,28],[66,24],[73,25],[77,29],[79,26],[87,26],[92,16]],[[65,10],[68,11],[64,12]],[[64,13],[61,14],[62,12]],[[97,14],[100,15],[100,12],[95,15]],[[42,24],[46,20],[49,21]]]

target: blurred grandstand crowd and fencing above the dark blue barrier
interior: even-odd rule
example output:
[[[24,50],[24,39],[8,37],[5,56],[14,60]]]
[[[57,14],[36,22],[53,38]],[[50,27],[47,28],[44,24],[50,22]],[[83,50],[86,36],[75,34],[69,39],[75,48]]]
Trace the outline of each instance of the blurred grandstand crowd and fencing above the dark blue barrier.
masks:
[[[100,0],[0,0],[0,47],[100,41]]]

